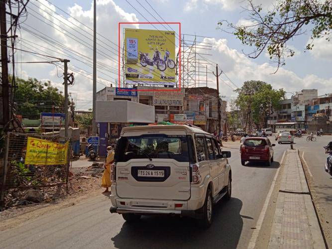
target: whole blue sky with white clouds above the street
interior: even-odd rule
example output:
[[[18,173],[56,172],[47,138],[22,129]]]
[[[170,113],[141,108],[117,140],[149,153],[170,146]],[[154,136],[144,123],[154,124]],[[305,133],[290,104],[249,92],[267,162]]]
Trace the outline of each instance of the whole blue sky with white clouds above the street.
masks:
[[[254,0],[268,9],[274,0]],[[55,5],[54,5],[55,4]],[[241,44],[232,34],[218,28],[218,21],[247,21],[243,0],[97,0],[97,90],[115,85],[117,77],[118,22],[181,22],[181,32],[202,36],[201,42],[212,44],[209,56],[209,87],[216,88],[212,75],[218,63],[220,94],[228,102],[236,97],[234,90],[247,80],[262,80],[275,89],[283,88],[287,97],[301,89],[318,89],[319,95],[332,92],[332,41],[315,40],[314,49],[305,51],[310,30],[295,37],[288,45],[295,56],[276,70],[266,55],[250,59],[244,55],[251,48]],[[91,0],[30,0],[28,15],[20,24],[16,47],[40,54],[70,59],[69,72],[74,72],[75,85],[69,88],[76,100],[76,110],[92,107],[93,8]],[[66,12],[66,13],[65,13]],[[70,14],[70,15],[68,15]],[[161,19],[162,17],[162,19]],[[75,19],[74,19],[75,18]],[[21,20],[23,21],[23,20]],[[149,25],[128,25],[148,29]],[[157,26],[163,29],[163,27]],[[177,28],[172,26],[172,28]],[[177,31],[177,30],[176,30]],[[189,37],[189,36],[188,36]],[[209,38],[207,38],[209,37]],[[178,43],[177,43],[178,45]],[[39,56],[39,57],[37,57]],[[41,55],[17,52],[17,61],[53,60]],[[17,64],[17,76],[50,80],[63,91],[63,65]]]

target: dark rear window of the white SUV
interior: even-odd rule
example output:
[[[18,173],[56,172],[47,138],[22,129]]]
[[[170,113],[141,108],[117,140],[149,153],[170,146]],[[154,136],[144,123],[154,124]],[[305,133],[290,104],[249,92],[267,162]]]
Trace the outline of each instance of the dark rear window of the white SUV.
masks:
[[[186,135],[144,134],[124,136],[118,140],[115,160],[126,162],[130,159],[167,158],[189,162]]]

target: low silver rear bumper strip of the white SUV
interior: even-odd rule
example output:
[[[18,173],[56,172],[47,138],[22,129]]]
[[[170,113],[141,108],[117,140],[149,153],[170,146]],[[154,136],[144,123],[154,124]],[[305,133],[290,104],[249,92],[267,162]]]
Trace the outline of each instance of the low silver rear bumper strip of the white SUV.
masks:
[[[111,207],[110,212],[118,214],[140,214],[140,215],[180,215],[187,217],[198,218],[198,214],[195,210],[154,210],[154,209],[125,209]]]

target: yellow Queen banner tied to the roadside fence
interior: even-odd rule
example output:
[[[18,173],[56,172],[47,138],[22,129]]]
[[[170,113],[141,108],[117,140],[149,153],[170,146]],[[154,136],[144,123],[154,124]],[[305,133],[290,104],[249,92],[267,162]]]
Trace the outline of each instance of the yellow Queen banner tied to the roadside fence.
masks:
[[[54,165],[67,163],[68,144],[28,136],[25,164]]]

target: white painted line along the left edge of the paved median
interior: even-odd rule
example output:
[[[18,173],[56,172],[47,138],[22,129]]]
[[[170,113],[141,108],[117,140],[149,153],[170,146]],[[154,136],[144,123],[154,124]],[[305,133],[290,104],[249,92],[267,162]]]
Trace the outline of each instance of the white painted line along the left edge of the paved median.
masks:
[[[262,227],[262,224],[263,224],[263,220],[264,220],[264,217],[265,217],[265,214],[266,214],[266,210],[267,210],[267,207],[268,207],[270,199],[271,199],[272,191],[274,189],[274,185],[276,183],[276,180],[277,180],[277,177],[278,177],[278,174],[279,174],[279,170],[281,168],[281,165],[284,162],[285,154],[286,154],[286,150],[284,151],[284,154],[282,155],[282,158],[281,158],[281,161],[280,161],[280,167],[277,169],[277,171],[276,171],[276,173],[274,175],[274,178],[273,178],[270,190],[267,193],[266,200],[264,202],[262,211],[259,214],[259,217],[258,217],[258,220],[257,220],[257,224],[256,224],[256,227],[255,227],[256,229],[252,233],[252,236],[251,236],[251,239],[249,241],[249,245],[248,245],[247,249],[254,249],[255,246],[256,246],[256,241],[257,241],[257,238],[258,238],[258,235],[259,235],[259,231],[260,231],[260,229]]]

